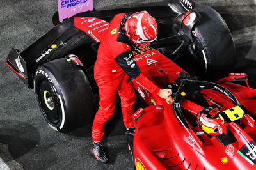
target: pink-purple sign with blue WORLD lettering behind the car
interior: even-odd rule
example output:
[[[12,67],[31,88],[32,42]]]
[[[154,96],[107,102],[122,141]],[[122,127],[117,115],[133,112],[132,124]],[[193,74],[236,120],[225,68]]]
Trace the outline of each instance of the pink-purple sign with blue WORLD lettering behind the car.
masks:
[[[93,0],[58,0],[60,22],[80,12],[92,11]]]

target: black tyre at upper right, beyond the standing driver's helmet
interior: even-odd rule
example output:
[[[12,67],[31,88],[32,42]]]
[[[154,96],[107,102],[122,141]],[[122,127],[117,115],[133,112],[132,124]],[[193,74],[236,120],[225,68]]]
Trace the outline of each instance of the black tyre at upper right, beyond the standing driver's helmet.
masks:
[[[202,18],[194,26],[193,40],[205,73],[230,72],[236,61],[236,49],[225,20],[210,6],[199,6],[196,11]]]

